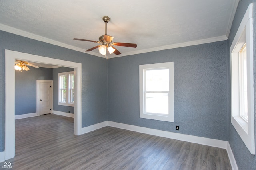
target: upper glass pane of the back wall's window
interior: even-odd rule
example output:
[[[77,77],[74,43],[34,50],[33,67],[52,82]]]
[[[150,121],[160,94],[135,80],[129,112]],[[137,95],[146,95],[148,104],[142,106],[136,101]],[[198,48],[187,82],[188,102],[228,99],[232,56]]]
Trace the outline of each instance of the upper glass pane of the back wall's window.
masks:
[[[169,91],[169,69],[146,70],[146,91]]]

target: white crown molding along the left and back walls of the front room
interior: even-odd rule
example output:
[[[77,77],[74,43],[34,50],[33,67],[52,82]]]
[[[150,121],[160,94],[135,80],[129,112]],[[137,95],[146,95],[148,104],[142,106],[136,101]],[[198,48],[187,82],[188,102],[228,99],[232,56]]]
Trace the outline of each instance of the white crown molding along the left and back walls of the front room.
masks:
[[[42,37],[42,36],[39,36],[39,35],[36,35],[36,34],[33,34],[33,33],[29,33],[29,32],[26,32],[26,31],[23,31],[23,30],[20,30],[20,29],[16,29],[14,27],[10,27],[10,26],[7,26],[7,25],[1,24],[1,23],[0,23],[0,30],[6,31],[6,32],[9,32],[9,33],[13,33],[13,34],[16,34],[16,35],[20,35],[22,37],[27,37],[27,38],[30,38],[30,39],[35,39],[35,40],[38,40],[38,41],[49,43],[49,44],[52,44],[52,45],[57,45],[57,46],[64,47],[64,48],[67,48],[67,49],[80,51],[82,53],[95,55],[95,56],[102,57],[102,58],[105,58],[105,59],[107,59],[107,58],[111,59],[111,58],[122,57],[122,56],[127,56],[127,55],[136,55],[136,54],[148,53],[148,52],[153,52],[153,51],[161,51],[161,50],[166,50],[166,49],[174,49],[174,48],[179,48],[179,47],[187,47],[187,46],[199,45],[199,44],[205,44],[205,43],[213,43],[213,42],[224,41],[224,40],[228,39],[228,37],[226,35],[223,35],[223,36],[219,36],[219,37],[200,39],[200,40],[196,40],[196,41],[189,41],[189,42],[177,43],[177,44],[172,44],[172,45],[164,45],[164,46],[161,46],[161,47],[154,47],[154,48],[150,48],[150,49],[130,51],[130,52],[127,52],[127,53],[122,53],[120,55],[106,56],[106,55],[101,55],[100,53],[96,53],[96,52],[85,52],[84,49],[81,49],[81,48],[78,48],[78,47],[75,47],[75,46],[72,46],[72,45],[68,45],[68,44],[65,44],[65,43],[61,43],[59,41],[55,41],[55,40],[52,40],[52,39],[49,39],[49,38],[46,38],[46,37]]]

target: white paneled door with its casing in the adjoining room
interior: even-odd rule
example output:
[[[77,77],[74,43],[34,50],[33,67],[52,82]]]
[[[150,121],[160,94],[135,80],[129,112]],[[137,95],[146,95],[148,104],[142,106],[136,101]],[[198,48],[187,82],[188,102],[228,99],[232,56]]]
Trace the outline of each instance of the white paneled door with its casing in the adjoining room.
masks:
[[[52,80],[36,80],[36,110],[38,115],[52,113]]]

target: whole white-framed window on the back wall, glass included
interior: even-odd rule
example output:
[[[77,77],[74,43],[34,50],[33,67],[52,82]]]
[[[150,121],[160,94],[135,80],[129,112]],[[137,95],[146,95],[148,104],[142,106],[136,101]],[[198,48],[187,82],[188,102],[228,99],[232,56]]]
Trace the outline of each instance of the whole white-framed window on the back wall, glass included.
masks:
[[[173,62],[140,65],[140,118],[174,122]]]

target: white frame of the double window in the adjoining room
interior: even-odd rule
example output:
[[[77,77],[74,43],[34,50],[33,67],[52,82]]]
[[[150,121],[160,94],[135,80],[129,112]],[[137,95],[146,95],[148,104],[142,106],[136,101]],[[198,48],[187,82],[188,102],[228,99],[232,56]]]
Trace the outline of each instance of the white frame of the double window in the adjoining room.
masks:
[[[70,75],[74,74],[74,71],[70,72],[60,72],[58,73],[58,104],[63,106],[72,106],[74,107],[74,102],[71,102],[71,84],[70,84]],[[61,102],[61,89],[62,89],[62,83],[60,82],[60,76],[66,75],[67,76],[67,88],[66,88],[66,102]]]

